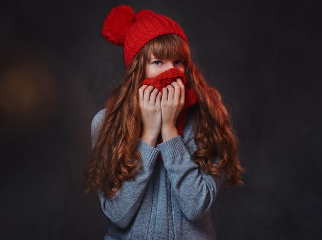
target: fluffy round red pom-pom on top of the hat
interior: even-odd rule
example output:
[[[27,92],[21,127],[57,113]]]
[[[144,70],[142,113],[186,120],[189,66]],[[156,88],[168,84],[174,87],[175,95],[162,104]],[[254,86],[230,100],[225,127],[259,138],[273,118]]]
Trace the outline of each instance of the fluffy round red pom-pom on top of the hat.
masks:
[[[118,46],[124,45],[125,35],[135,17],[135,9],[128,5],[113,8],[105,17],[101,33],[106,40]]]

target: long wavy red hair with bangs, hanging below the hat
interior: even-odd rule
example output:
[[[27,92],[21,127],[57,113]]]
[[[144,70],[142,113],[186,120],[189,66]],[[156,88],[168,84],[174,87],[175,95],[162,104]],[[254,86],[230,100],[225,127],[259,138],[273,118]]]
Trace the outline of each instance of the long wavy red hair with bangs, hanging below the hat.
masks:
[[[198,150],[193,153],[193,161],[207,174],[221,177],[225,173],[223,186],[243,186],[240,173],[246,169],[239,163],[238,140],[220,94],[194,66],[190,49],[180,36],[164,34],[152,39],[136,54],[121,84],[106,100],[102,127],[84,170],[84,192],[99,188],[106,197],[113,197],[122,181],[135,179],[135,170],[142,169],[138,164],[140,153],[135,151],[142,130],[138,88],[151,53],[159,59],[184,59],[187,84],[199,96],[194,121],[194,142]],[[217,157],[221,159],[213,163]]]

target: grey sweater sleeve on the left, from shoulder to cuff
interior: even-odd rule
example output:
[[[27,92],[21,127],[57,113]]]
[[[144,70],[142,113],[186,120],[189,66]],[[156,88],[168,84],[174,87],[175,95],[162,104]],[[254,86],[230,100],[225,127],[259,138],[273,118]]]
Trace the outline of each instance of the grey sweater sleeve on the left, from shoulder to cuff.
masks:
[[[101,127],[104,116],[104,112],[101,111],[96,114],[92,121],[92,149],[99,132],[97,128]],[[142,165],[143,169],[135,170],[135,179],[123,181],[121,188],[111,198],[105,197],[104,192],[99,188],[97,189],[103,213],[119,228],[127,228],[138,211],[160,152],[140,138],[136,149],[141,154],[139,164]]]

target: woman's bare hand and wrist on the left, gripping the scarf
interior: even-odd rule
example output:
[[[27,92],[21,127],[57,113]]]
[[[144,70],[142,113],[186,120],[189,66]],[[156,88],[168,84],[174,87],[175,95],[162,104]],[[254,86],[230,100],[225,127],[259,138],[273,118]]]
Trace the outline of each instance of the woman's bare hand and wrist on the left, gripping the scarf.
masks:
[[[155,145],[161,130],[161,96],[162,93],[152,85],[143,85],[139,88],[139,105],[143,123],[141,139],[151,143],[150,145]]]

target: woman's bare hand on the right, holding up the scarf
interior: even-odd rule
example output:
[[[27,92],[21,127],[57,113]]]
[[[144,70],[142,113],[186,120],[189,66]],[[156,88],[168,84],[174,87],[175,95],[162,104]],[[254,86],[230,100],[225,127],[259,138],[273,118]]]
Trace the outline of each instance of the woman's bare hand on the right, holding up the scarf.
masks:
[[[176,119],[185,104],[185,85],[180,78],[177,78],[176,82],[172,82],[171,85],[164,87],[162,92],[162,134],[163,141],[166,141],[163,131],[174,130],[176,128]]]

